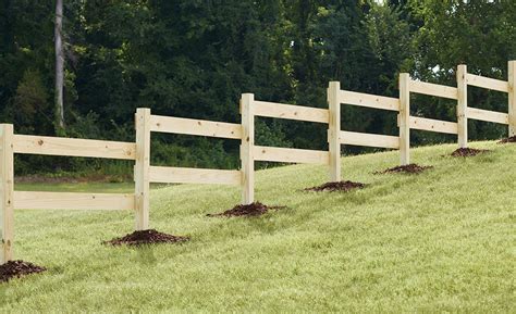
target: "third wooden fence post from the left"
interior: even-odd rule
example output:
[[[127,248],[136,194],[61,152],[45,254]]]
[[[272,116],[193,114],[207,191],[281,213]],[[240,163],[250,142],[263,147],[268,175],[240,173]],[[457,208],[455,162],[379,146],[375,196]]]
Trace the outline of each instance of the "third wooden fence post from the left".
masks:
[[[241,98],[242,114],[242,203],[255,201],[255,114],[253,111],[254,93],[243,93]]]

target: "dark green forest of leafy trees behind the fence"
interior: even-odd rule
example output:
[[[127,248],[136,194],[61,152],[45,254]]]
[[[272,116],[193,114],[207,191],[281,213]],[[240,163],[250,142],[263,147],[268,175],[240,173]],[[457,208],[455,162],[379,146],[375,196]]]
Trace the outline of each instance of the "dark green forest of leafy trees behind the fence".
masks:
[[[397,74],[455,86],[455,68],[506,80],[516,1],[64,0],[64,128],[54,104],[54,1],[0,0],[0,120],[15,133],[134,140],[134,112],[238,122],[242,92],[327,108],[325,88],[397,97]],[[507,96],[469,90],[507,111]],[[414,115],[455,121],[453,101],[414,98]],[[342,126],[395,135],[396,115],[343,105]],[[471,139],[506,127],[470,122]],[[416,145],[454,137],[413,133]],[[155,164],[235,168],[238,141],[152,136]],[[327,149],[325,127],[257,120],[257,143]],[[343,147],[346,153],[364,150]],[[124,162],[16,156],[16,174],[130,174]],[[48,163],[52,160],[52,163]],[[45,162],[47,161],[47,162]]]

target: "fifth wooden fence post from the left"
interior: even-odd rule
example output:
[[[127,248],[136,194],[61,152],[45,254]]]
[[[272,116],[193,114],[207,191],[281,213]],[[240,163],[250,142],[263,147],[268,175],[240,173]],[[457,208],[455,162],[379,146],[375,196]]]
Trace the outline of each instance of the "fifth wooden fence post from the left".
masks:
[[[400,163],[410,163],[410,75],[400,74]]]

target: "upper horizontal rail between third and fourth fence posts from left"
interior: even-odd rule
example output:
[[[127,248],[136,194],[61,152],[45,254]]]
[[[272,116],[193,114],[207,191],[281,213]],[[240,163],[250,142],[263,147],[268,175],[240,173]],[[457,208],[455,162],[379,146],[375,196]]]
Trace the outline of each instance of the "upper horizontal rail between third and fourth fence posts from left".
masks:
[[[258,116],[279,117],[327,124],[330,121],[330,113],[328,109],[265,101],[254,101],[253,113]]]

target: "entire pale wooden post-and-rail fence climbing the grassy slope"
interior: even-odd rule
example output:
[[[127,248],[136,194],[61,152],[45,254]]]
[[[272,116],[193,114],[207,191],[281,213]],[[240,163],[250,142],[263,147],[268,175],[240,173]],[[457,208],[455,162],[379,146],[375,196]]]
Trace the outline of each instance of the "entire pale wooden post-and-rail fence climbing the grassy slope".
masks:
[[[130,210],[135,212],[135,228],[149,227],[150,183],[221,184],[242,188],[242,202],[255,200],[255,161],[309,163],[329,166],[329,179],[341,179],[341,146],[398,149],[402,165],[409,163],[410,129],[456,134],[458,146],[467,147],[467,120],[508,125],[516,135],[516,61],[508,63],[508,80],[499,80],[457,68],[457,87],[413,80],[400,75],[400,98],[341,90],[339,81],[328,88],[329,109],[309,108],[255,100],[253,93],[241,99],[241,124],[151,115],[138,109],[135,115],[136,141],[59,138],[15,135],[13,125],[0,125],[0,263],[13,259],[14,210]],[[508,93],[508,113],[467,105],[467,87],[477,86]],[[410,93],[423,93],[457,101],[457,122],[410,116]],[[398,112],[400,136],[355,133],[341,129],[341,104]],[[286,118],[328,125],[328,151],[262,147],[255,145],[255,116]],[[206,169],[150,165],[150,133],[186,134],[241,140],[241,169]],[[134,193],[71,193],[14,191],[14,153],[65,155],[135,161]]]

